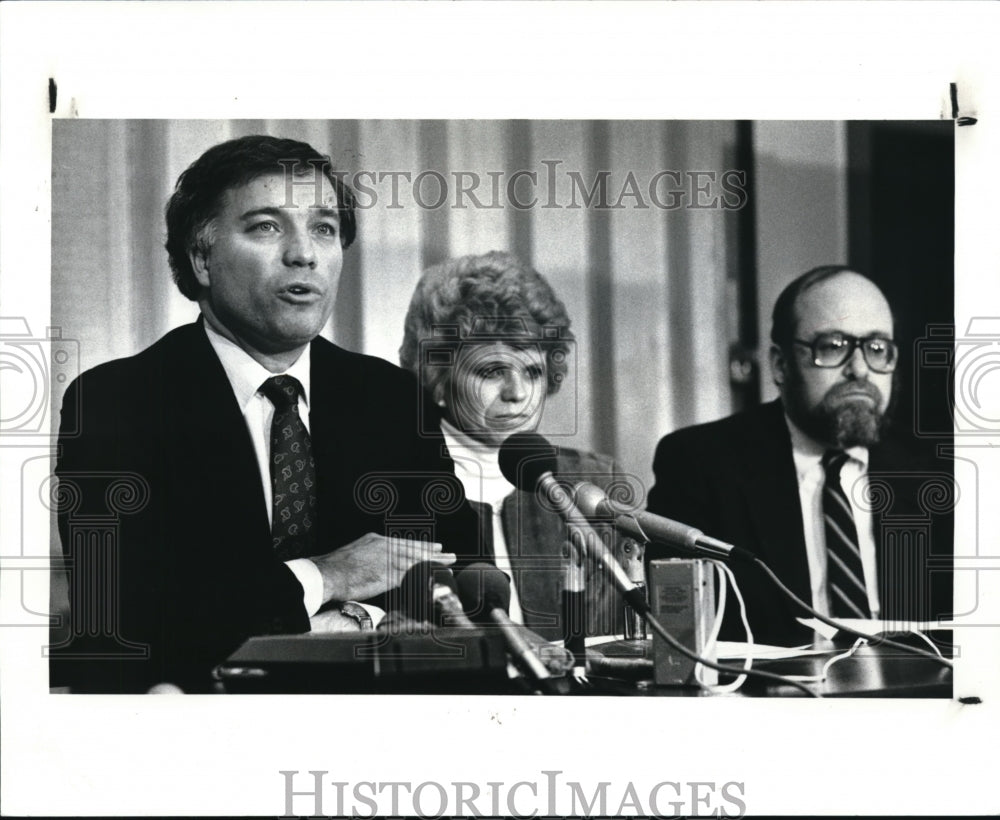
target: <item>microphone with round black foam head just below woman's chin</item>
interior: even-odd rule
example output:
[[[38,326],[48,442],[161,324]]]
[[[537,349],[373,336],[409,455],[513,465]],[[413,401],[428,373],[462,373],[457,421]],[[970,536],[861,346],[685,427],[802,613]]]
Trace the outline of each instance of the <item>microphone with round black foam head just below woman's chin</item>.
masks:
[[[570,540],[585,550],[610,574],[625,600],[639,612],[648,612],[645,590],[636,586],[615,560],[611,550],[590,526],[570,494],[556,480],[555,448],[537,433],[514,433],[500,447],[500,472],[519,490],[539,489],[562,515]]]

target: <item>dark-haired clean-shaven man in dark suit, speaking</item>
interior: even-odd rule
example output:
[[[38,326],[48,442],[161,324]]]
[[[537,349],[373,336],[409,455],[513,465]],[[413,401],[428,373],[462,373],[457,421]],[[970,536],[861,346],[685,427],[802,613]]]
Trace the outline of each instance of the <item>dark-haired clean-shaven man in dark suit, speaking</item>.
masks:
[[[71,616],[52,683],[73,691],[209,691],[248,636],[370,627],[356,602],[476,537],[419,434],[416,381],[318,338],[355,234],[327,157],[217,145],[178,180],[167,229],[201,317],[84,373],[63,405],[80,434],[60,437]]]

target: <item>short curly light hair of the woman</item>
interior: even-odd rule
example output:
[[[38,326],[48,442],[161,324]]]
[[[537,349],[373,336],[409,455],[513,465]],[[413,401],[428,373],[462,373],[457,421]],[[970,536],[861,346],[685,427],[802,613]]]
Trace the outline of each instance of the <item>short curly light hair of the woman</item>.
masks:
[[[406,312],[399,361],[433,392],[447,382],[462,345],[538,346],[551,395],[566,376],[573,341],[569,325],[566,307],[549,283],[513,254],[463,256],[420,277]]]

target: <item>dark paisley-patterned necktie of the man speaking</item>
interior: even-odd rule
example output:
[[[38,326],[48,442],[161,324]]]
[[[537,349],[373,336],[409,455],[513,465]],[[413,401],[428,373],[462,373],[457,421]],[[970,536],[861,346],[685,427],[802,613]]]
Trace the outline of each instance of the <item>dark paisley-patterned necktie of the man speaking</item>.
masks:
[[[282,561],[313,554],[316,537],[316,462],[309,431],[299,417],[302,385],[272,376],[260,392],[274,405],[271,421],[271,537]]]

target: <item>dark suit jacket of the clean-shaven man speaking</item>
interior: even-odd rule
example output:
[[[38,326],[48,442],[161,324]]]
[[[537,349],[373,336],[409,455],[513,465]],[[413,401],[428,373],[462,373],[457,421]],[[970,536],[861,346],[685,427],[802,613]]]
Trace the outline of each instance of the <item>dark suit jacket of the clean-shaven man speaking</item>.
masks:
[[[476,517],[454,466],[418,434],[422,392],[380,359],[316,339],[310,431],[316,554],[368,532],[470,551]],[[210,670],[254,634],[304,632],[302,587],[271,546],[260,471],[200,321],[84,373],[63,404],[59,528],[70,640],[52,685],[205,691]],[[111,657],[96,657],[110,655]]]

